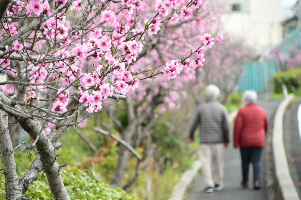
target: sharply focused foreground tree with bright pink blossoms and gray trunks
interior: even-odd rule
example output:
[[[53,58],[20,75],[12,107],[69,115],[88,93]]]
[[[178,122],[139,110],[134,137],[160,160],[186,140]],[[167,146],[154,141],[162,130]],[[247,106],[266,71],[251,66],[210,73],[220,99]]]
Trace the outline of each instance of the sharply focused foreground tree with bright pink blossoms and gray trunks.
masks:
[[[197,67],[202,56],[190,57],[213,44],[210,35],[198,36],[189,56],[135,71],[144,37],[169,21],[189,20],[200,0],[0,2],[0,71],[8,77],[0,82],[0,143],[8,199],[25,198],[42,170],[54,198],[69,199],[55,149],[66,129],[79,122],[78,114],[101,110],[107,98],[126,100],[144,79],[175,78],[187,66]],[[38,153],[23,177],[16,173],[8,116],[30,135],[27,146]]]

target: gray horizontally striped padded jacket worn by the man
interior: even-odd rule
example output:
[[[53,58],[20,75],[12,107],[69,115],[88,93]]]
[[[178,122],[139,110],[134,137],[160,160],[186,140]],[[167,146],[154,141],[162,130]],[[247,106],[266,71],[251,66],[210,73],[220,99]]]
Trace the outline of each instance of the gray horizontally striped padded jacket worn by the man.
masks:
[[[228,113],[224,105],[216,101],[200,104],[192,119],[190,134],[194,138],[194,131],[200,125],[200,143],[228,143],[229,123]]]

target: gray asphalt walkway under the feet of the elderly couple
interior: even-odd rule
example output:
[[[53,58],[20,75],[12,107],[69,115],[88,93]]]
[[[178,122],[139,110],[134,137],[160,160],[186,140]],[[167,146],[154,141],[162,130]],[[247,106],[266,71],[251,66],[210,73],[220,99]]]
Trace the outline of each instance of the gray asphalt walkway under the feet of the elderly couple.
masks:
[[[274,114],[277,109],[278,104],[281,100],[268,100],[271,95],[271,91],[259,95],[258,104],[265,108],[267,111],[270,125],[274,121]],[[272,131],[272,127],[270,126],[269,131]],[[233,133],[233,131],[232,131]],[[233,136],[232,136],[233,137]],[[253,190],[253,185],[250,184],[248,189],[243,189],[240,186],[241,182],[241,161],[240,161],[240,152],[239,149],[234,149],[233,144],[229,145],[229,147],[225,151],[225,174],[224,174],[224,188],[222,191],[216,191],[211,194],[204,192],[204,180],[203,176],[200,175],[196,178],[194,185],[188,195],[187,200],[267,200],[266,193],[266,178],[265,174],[262,174],[262,189],[261,190]],[[264,164],[263,164],[264,165]],[[264,168],[264,166],[263,166]],[[250,166],[251,173],[249,174],[250,183],[253,180],[252,167]],[[262,169],[262,172],[265,170]]]

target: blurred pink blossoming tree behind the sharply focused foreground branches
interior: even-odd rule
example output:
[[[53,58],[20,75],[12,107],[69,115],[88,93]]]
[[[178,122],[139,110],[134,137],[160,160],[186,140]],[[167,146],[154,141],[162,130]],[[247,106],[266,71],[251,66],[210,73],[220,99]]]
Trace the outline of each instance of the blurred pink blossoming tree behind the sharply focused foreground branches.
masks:
[[[205,61],[204,51],[214,44],[211,35],[205,34],[205,32],[213,30],[213,24],[218,22],[217,19],[221,13],[222,10],[216,4],[203,2],[199,10],[187,17],[188,20],[185,20],[185,17],[180,20],[179,18],[175,20],[176,17],[172,17],[168,23],[161,26],[161,31],[156,36],[145,37],[145,41],[149,41],[146,42],[146,51],[138,56],[137,61],[132,65],[132,69],[135,70],[135,73],[138,71],[152,71],[155,74],[157,70],[154,69],[162,63],[166,63],[163,73],[169,74],[170,79],[160,75],[156,79],[144,80],[135,91],[128,93],[129,99],[126,102],[127,126],[120,126],[121,123],[116,122],[116,118],[114,119],[123,140],[127,144],[135,148],[140,145],[142,138],[147,138],[146,133],[154,126],[156,120],[154,117],[157,116],[156,110],[159,110],[160,114],[167,109],[177,107],[175,101],[179,98],[179,95],[186,96],[185,91],[178,94],[186,83],[191,81],[194,82],[194,85],[198,85],[196,71],[201,70],[201,66]],[[195,49],[193,41],[197,38],[201,38],[204,45],[197,48],[197,54],[193,56],[192,49]],[[190,49],[191,52],[189,52]],[[175,57],[182,58],[185,63],[178,65],[179,59],[173,60]],[[182,71],[182,69],[184,70]],[[179,73],[180,71],[181,73]],[[147,74],[137,74],[137,77],[140,80],[145,79]],[[174,78],[175,80],[173,80]],[[112,180],[113,186],[120,186],[130,155],[131,150],[121,145],[118,165]],[[128,184],[123,188],[127,188],[127,186]]]

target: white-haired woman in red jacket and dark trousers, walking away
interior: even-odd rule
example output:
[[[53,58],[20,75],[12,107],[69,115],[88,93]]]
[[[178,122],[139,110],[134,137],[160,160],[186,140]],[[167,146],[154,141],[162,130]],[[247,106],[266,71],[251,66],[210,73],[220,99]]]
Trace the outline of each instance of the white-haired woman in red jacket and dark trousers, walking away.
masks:
[[[245,91],[242,97],[244,108],[238,111],[234,124],[234,147],[240,147],[243,180],[242,186],[249,185],[249,165],[254,172],[254,189],[260,189],[260,172],[265,135],[268,131],[268,116],[256,104],[255,91]]]

